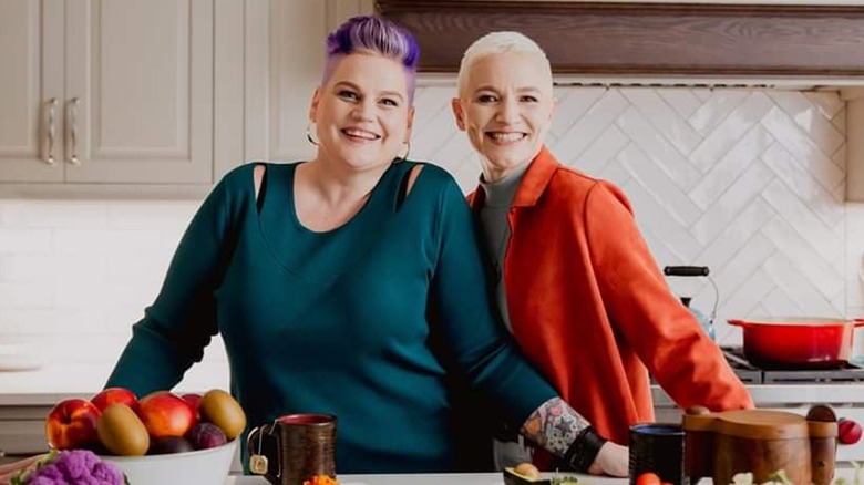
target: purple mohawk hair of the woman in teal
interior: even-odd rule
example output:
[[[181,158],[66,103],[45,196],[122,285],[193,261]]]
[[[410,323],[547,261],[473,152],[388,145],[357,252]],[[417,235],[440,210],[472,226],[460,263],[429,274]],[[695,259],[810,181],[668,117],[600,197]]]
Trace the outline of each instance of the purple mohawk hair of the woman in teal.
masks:
[[[402,63],[408,78],[408,96],[414,102],[414,78],[420,59],[420,44],[408,30],[376,16],[348,19],[327,37],[327,60],[323,80],[327,83],[337,61],[358,51],[372,52]]]

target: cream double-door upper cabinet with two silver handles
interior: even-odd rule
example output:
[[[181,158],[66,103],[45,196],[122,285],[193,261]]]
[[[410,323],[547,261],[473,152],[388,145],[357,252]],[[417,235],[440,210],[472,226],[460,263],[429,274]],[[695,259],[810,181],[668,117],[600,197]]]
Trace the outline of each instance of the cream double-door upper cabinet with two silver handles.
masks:
[[[214,0],[3,0],[6,183],[213,182]]]

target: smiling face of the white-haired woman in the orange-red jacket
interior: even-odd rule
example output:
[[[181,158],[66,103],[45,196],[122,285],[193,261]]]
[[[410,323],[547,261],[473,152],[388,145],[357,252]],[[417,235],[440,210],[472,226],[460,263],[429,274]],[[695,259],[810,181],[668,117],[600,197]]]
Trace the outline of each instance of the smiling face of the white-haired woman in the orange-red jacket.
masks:
[[[495,182],[531,162],[552,124],[552,76],[538,55],[488,54],[466,72],[453,100],[456,125],[481,155],[483,178]]]

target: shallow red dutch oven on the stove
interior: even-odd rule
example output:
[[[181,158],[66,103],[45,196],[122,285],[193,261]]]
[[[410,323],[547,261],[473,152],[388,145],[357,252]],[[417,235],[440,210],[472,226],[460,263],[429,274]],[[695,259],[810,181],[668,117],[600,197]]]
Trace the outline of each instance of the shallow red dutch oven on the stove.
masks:
[[[744,331],[744,357],[770,369],[821,369],[845,365],[852,338],[863,319],[809,317],[728,320]]]

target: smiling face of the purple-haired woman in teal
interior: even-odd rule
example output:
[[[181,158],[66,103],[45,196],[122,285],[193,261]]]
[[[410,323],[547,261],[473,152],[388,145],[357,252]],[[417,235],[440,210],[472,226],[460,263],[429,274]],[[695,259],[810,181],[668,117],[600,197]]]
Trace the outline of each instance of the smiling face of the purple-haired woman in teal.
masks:
[[[413,115],[402,64],[359,52],[337,63],[327,83],[316,90],[309,110],[319,158],[359,171],[390,164],[404,151]]]

